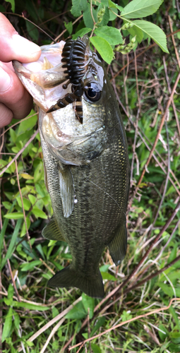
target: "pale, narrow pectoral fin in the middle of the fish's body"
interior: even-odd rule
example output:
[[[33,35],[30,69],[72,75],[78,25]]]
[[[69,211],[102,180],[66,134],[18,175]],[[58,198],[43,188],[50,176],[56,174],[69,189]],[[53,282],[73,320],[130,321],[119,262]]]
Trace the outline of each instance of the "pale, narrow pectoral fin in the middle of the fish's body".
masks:
[[[69,217],[73,212],[74,190],[73,177],[68,165],[62,168],[59,164],[59,186],[64,217]]]

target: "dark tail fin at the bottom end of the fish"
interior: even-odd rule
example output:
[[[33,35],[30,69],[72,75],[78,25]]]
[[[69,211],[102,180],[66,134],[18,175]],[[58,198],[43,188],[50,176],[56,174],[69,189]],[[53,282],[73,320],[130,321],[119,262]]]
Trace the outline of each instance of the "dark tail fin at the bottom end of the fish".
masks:
[[[102,275],[98,269],[93,276],[80,275],[71,266],[64,268],[49,280],[50,287],[76,287],[92,298],[104,297]]]

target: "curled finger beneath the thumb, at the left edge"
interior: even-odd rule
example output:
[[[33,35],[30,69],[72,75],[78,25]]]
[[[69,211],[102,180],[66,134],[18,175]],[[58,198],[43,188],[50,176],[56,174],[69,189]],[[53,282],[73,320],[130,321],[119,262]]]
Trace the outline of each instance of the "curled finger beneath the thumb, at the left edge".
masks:
[[[16,73],[3,63],[0,63],[0,102],[11,110],[15,119],[23,119],[32,109],[32,97]]]

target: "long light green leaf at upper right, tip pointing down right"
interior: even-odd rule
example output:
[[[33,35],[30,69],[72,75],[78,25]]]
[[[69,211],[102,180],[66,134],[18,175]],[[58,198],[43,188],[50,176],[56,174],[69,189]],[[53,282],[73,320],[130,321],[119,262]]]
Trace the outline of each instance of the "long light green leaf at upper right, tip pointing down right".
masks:
[[[169,53],[167,49],[167,37],[160,27],[144,20],[135,20],[132,23],[149,35],[160,46],[163,52]]]

